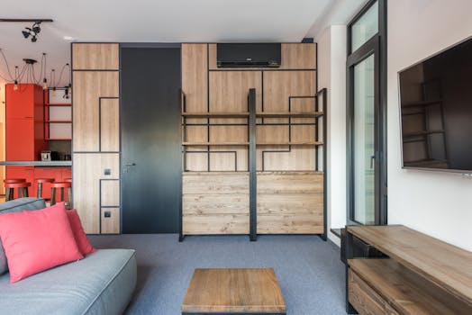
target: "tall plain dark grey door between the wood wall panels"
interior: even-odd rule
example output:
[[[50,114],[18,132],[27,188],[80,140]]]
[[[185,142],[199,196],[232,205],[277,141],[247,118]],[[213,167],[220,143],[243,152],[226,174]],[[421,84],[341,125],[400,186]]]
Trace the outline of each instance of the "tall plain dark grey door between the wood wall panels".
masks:
[[[123,233],[177,233],[180,47],[121,50]]]

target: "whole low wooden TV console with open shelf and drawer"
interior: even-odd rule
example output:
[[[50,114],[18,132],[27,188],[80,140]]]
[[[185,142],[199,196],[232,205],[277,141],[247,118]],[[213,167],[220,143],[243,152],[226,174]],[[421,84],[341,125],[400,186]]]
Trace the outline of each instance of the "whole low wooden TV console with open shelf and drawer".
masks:
[[[354,255],[355,240],[385,257]],[[348,226],[345,249],[348,313],[472,314],[467,250],[402,225]]]

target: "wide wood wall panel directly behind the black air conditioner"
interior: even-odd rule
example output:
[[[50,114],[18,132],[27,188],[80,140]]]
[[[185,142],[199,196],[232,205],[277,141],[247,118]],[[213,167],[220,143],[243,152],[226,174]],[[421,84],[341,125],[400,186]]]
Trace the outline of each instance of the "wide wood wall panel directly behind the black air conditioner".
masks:
[[[212,70],[223,69],[216,66],[216,44],[208,45],[209,68]],[[281,45],[281,65],[277,69],[305,69],[316,68],[316,44],[315,43],[282,43]],[[248,68],[262,69],[266,68]],[[224,70],[234,71],[231,68]],[[237,69],[236,69],[237,70]]]

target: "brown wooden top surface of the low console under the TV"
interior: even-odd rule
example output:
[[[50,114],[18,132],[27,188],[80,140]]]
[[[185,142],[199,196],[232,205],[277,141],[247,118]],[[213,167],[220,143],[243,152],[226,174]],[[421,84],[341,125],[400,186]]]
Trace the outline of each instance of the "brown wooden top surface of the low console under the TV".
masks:
[[[349,226],[347,232],[472,305],[472,253],[467,250],[402,225]]]

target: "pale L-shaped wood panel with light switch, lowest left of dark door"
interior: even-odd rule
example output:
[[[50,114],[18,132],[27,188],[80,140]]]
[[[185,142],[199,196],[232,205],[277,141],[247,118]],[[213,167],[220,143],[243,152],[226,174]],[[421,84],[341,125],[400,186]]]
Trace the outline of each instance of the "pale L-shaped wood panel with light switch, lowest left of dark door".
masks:
[[[118,153],[75,153],[73,155],[74,206],[86,233],[100,232],[100,179],[120,178]],[[104,175],[110,169],[111,175]]]

